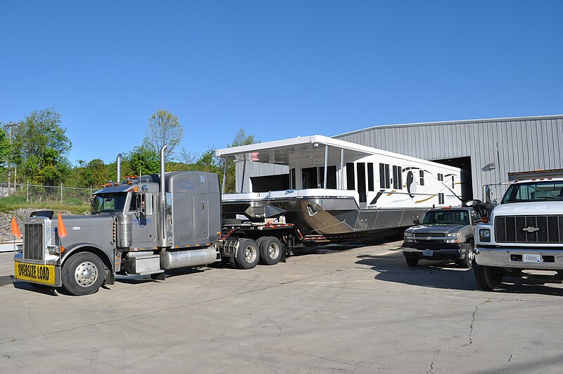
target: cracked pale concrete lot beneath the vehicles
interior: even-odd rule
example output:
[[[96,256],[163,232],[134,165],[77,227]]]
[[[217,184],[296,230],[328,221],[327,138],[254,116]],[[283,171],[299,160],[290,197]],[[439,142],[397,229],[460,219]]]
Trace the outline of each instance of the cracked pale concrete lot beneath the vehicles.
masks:
[[[0,372],[560,373],[563,287],[477,288],[400,242],[301,249],[277,266],[120,278],[70,297],[0,254]]]

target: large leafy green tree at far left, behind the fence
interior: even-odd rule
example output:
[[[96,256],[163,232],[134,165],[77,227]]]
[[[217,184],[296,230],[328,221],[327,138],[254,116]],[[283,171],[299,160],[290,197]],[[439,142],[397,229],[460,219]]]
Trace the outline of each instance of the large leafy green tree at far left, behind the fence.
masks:
[[[33,111],[13,128],[13,162],[24,180],[56,185],[70,168],[66,158],[72,147],[55,108]]]

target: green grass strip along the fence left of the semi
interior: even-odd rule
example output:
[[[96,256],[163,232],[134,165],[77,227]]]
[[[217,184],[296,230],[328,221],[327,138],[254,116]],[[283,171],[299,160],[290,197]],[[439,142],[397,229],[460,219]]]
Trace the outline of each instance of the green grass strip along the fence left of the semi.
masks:
[[[20,194],[0,198],[0,212],[9,213],[20,208],[34,208],[38,211],[70,211],[72,214],[84,214],[84,212],[90,211],[90,204],[75,197],[63,199],[63,204],[56,200],[27,203],[25,195]]]

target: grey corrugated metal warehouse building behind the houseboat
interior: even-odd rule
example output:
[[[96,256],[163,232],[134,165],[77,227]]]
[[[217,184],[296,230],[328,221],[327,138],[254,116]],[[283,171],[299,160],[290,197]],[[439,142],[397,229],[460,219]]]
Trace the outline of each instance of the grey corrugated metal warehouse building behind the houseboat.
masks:
[[[467,170],[475,199],[483,197],[483,185],[506,182],[508,173],[563,169],[563,115],[380,125],[334,138]],[[285,166],[255,163],[244,169],[243,178],[237,165],[240,192],[251,192],[256,178],[288,173]],[[502,192],[493,189],[493,197]]]

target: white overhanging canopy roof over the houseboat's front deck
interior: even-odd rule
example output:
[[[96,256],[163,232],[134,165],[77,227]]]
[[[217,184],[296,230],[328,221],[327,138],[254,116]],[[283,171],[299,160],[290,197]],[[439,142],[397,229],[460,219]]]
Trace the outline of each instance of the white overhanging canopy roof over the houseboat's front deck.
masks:
[[[366,147],[360,144],[345,142],[323,135],[312,135],[310,137],[294,137],[291,139],[275,140],[273,142],[217,149],[215,155],[222,158],[231,158],[235,161],[254,161],[289,165],[290,158],[292,161],[300,158],[324,158],[325,147],[330,147],[330,149],[344,149],[347,158],[350,156],[361,157],[368,154],[386,153],[380,149]]]

